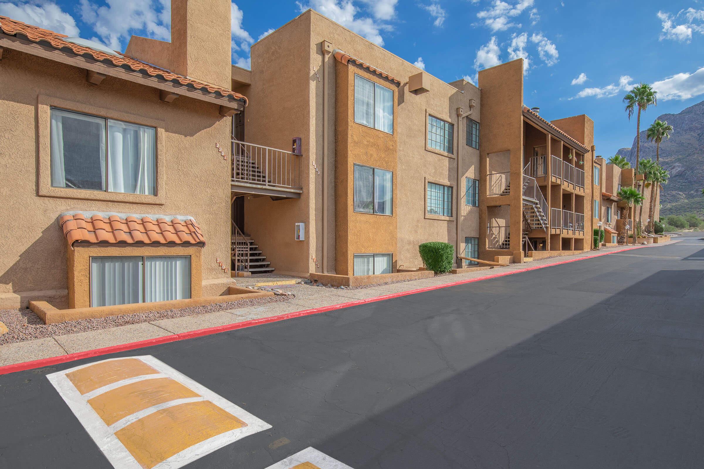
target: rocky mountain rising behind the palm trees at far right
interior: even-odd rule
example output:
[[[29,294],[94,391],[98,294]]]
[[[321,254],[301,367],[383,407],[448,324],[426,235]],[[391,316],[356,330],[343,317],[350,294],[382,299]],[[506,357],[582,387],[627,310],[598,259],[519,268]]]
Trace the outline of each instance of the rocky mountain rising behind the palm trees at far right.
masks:
[[[657,108],[654,108],[657,109]],[[646,139],[652,111],[641,114],[641,160],[655,160],[655,143]],[[663,186],[661,215],[695,212],[704,215],[704,101],[686,108],[678,114],[663,114],[659,120],[672,125],[672,136],[660,143],[660,164],[670,172],[670,182]],[[631,122],[634,119],[631,118]],[[635,126],[635,122],[634,122]],[[617,152],[631,162],[636,162],[636,139],[631,148]]]

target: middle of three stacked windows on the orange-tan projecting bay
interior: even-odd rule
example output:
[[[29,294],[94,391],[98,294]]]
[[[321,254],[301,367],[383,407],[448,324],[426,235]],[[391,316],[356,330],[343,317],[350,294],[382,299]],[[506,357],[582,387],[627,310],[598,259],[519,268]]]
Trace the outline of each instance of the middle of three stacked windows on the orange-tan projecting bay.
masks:
[[[394,173],[354,165],[354,211],[391,215],[394,207]]]

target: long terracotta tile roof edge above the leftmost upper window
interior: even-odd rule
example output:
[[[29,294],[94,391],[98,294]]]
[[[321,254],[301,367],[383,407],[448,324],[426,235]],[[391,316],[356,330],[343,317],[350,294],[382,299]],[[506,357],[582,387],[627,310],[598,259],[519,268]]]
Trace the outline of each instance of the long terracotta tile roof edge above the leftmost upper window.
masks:
[[[226,98],[232,98],[237,101],[242,101],[244,103],[247,102],[247,98],[245,98],[239,93],[235,93],[230,89],[222,88],[221,86],[217,86],[214,84],[199,82],[196,79],[184,77],[183,75],[177,75],[175,73],[170,72],[169,70],[165,70],[163,68],[157,67],[156,65],[151,65],[149,63],[142,62],[141,60],[125,56],[125,54],[117,51],[115,51],[116,55],[113,55],[111,53],[92,49],[87,46],[74,44],[73,42],[66,40],[68,36],[66,36],[65,34],[59,34],[58,32],[44,30],[41,27],[37,27],[34,25],[27,25],[26,23],[22,23],[18,20],[13,20],[12,18],[7,18],[6,16],[0,16],[0,31],[11,36],[21,34],[22,36],[27,37],[27,39],[32,42],[48,43],[57,50],[70,49],[70,51],[73,51],[73,53],[75,53],[77,56],[89,55],[92,56],[92,58],[94,58],[95,60],[101,62],[108,60],[117,67],[127,67],[133,70],[134,72],[144,71],[151,77],[157,77],[160,79],[164,79],[167,82],[181,84],[182,86],[187,86],[191,89],[206,91],[210,94],[214,94],[215,96],[224,96]]]

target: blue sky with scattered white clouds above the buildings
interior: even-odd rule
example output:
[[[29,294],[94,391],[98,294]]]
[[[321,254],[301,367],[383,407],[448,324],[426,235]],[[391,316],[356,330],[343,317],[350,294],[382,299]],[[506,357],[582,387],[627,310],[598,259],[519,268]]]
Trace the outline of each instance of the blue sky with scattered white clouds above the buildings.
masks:
[[[131,34],[169,39],[169,4],[0,0],[0,15],[124,51]],[[641,127],[704,100],[704,0],[238,0],[233,63],[249,67],[249,46],[309,7],[447,82],[526,58],[525,104],[548,120],[586,113],[604,156],[633,141],[633,84],[660,94]]]

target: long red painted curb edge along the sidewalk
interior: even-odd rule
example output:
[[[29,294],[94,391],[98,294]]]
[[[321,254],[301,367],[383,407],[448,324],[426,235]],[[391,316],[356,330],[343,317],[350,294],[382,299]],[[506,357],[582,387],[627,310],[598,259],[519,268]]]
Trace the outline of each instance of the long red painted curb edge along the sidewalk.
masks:
[[[596,254],[593,256],[578,257],[577,259],[569,259],[566,261],[553,262],[553,264],[546,264],[541,266],[527,267],[525,269],[516,269],[515,271],[503,272],[501,274],[487,275],[479,278],[470,278],[468,280],[460,280],[451,283],[443,283],[441,285],[433,285],[425,288],[416,288],[415,290],[408,290],[406,292],[389,293],[389,295],[382,295],[379,297],[367,298],[365,300],[354,300],[345,303],[332,304],[330,306],[304,309],[303,311],[295,311],[293,313],[279,314],[278,316],[270,316],[268,318],[262,319],[250,319],[249,321],[242,321],[234,324],[227,324],[225,326],[215,326],[211,328],[199,329],[199,330],[189,330],[189,332],[165,335],[164,337],[159,337],[156,339],[139,340],[138,342],[130,342],[121,345],[112,345],[111,347],[103,347],[101,349],[87,350],[86,352],[76,352],[73,354],[52,356],[51,358],[24,361],[18,364],[0,366],[0,375],[6,375],[8,373],[15,373],[17,371],[31,370],[33,368],[42,368],[43,366],[51,366],[61,363],[66,363],[68,361],[75,361],[80,359],[90,358],[92,356],[100,356],[106,354],[112,354],[115,352],[124,352],[125,350],[139,349],[142,347],[151,347],[152,345],[165,344],[168,342],[176,342],[177,340],[186,340],[196,337],[203,337],[204,335],[213,335],[221,332],[227,332],[228,330],[244,329],[253,326],[260,326],[261,324],[274,323],[278,321],[285,321],[286,319],[299,318],[302,316],[310,316],[312,314],[325,313],[327,311],[334,311],[335,309],[342,309],[351,306],[356,306],[359,304],[374,303],[377,301],[390,300],[391,298],[398,298],[407,295],[415,295],[416,293],[424,293],[432,290],[439,290],[441,288],[453,287],[456,285],[464,285],[465,283],[473,283],[482,280],[488,280],[489,278],[504,277],[507,275],[520,274],[521,272],[527,272],[536,269],[543,269],[545,267],[552,267],[560,264],[569,264],[570,262],[577,262],[584,259],[592,259],[593,257],[601,257],[610,254],[615,254],[617,252],[630,251],[634,249],[645,248],[646,246],[634,246],[633,248],[624,248],[617,251],[603,252],[602,254]]]

